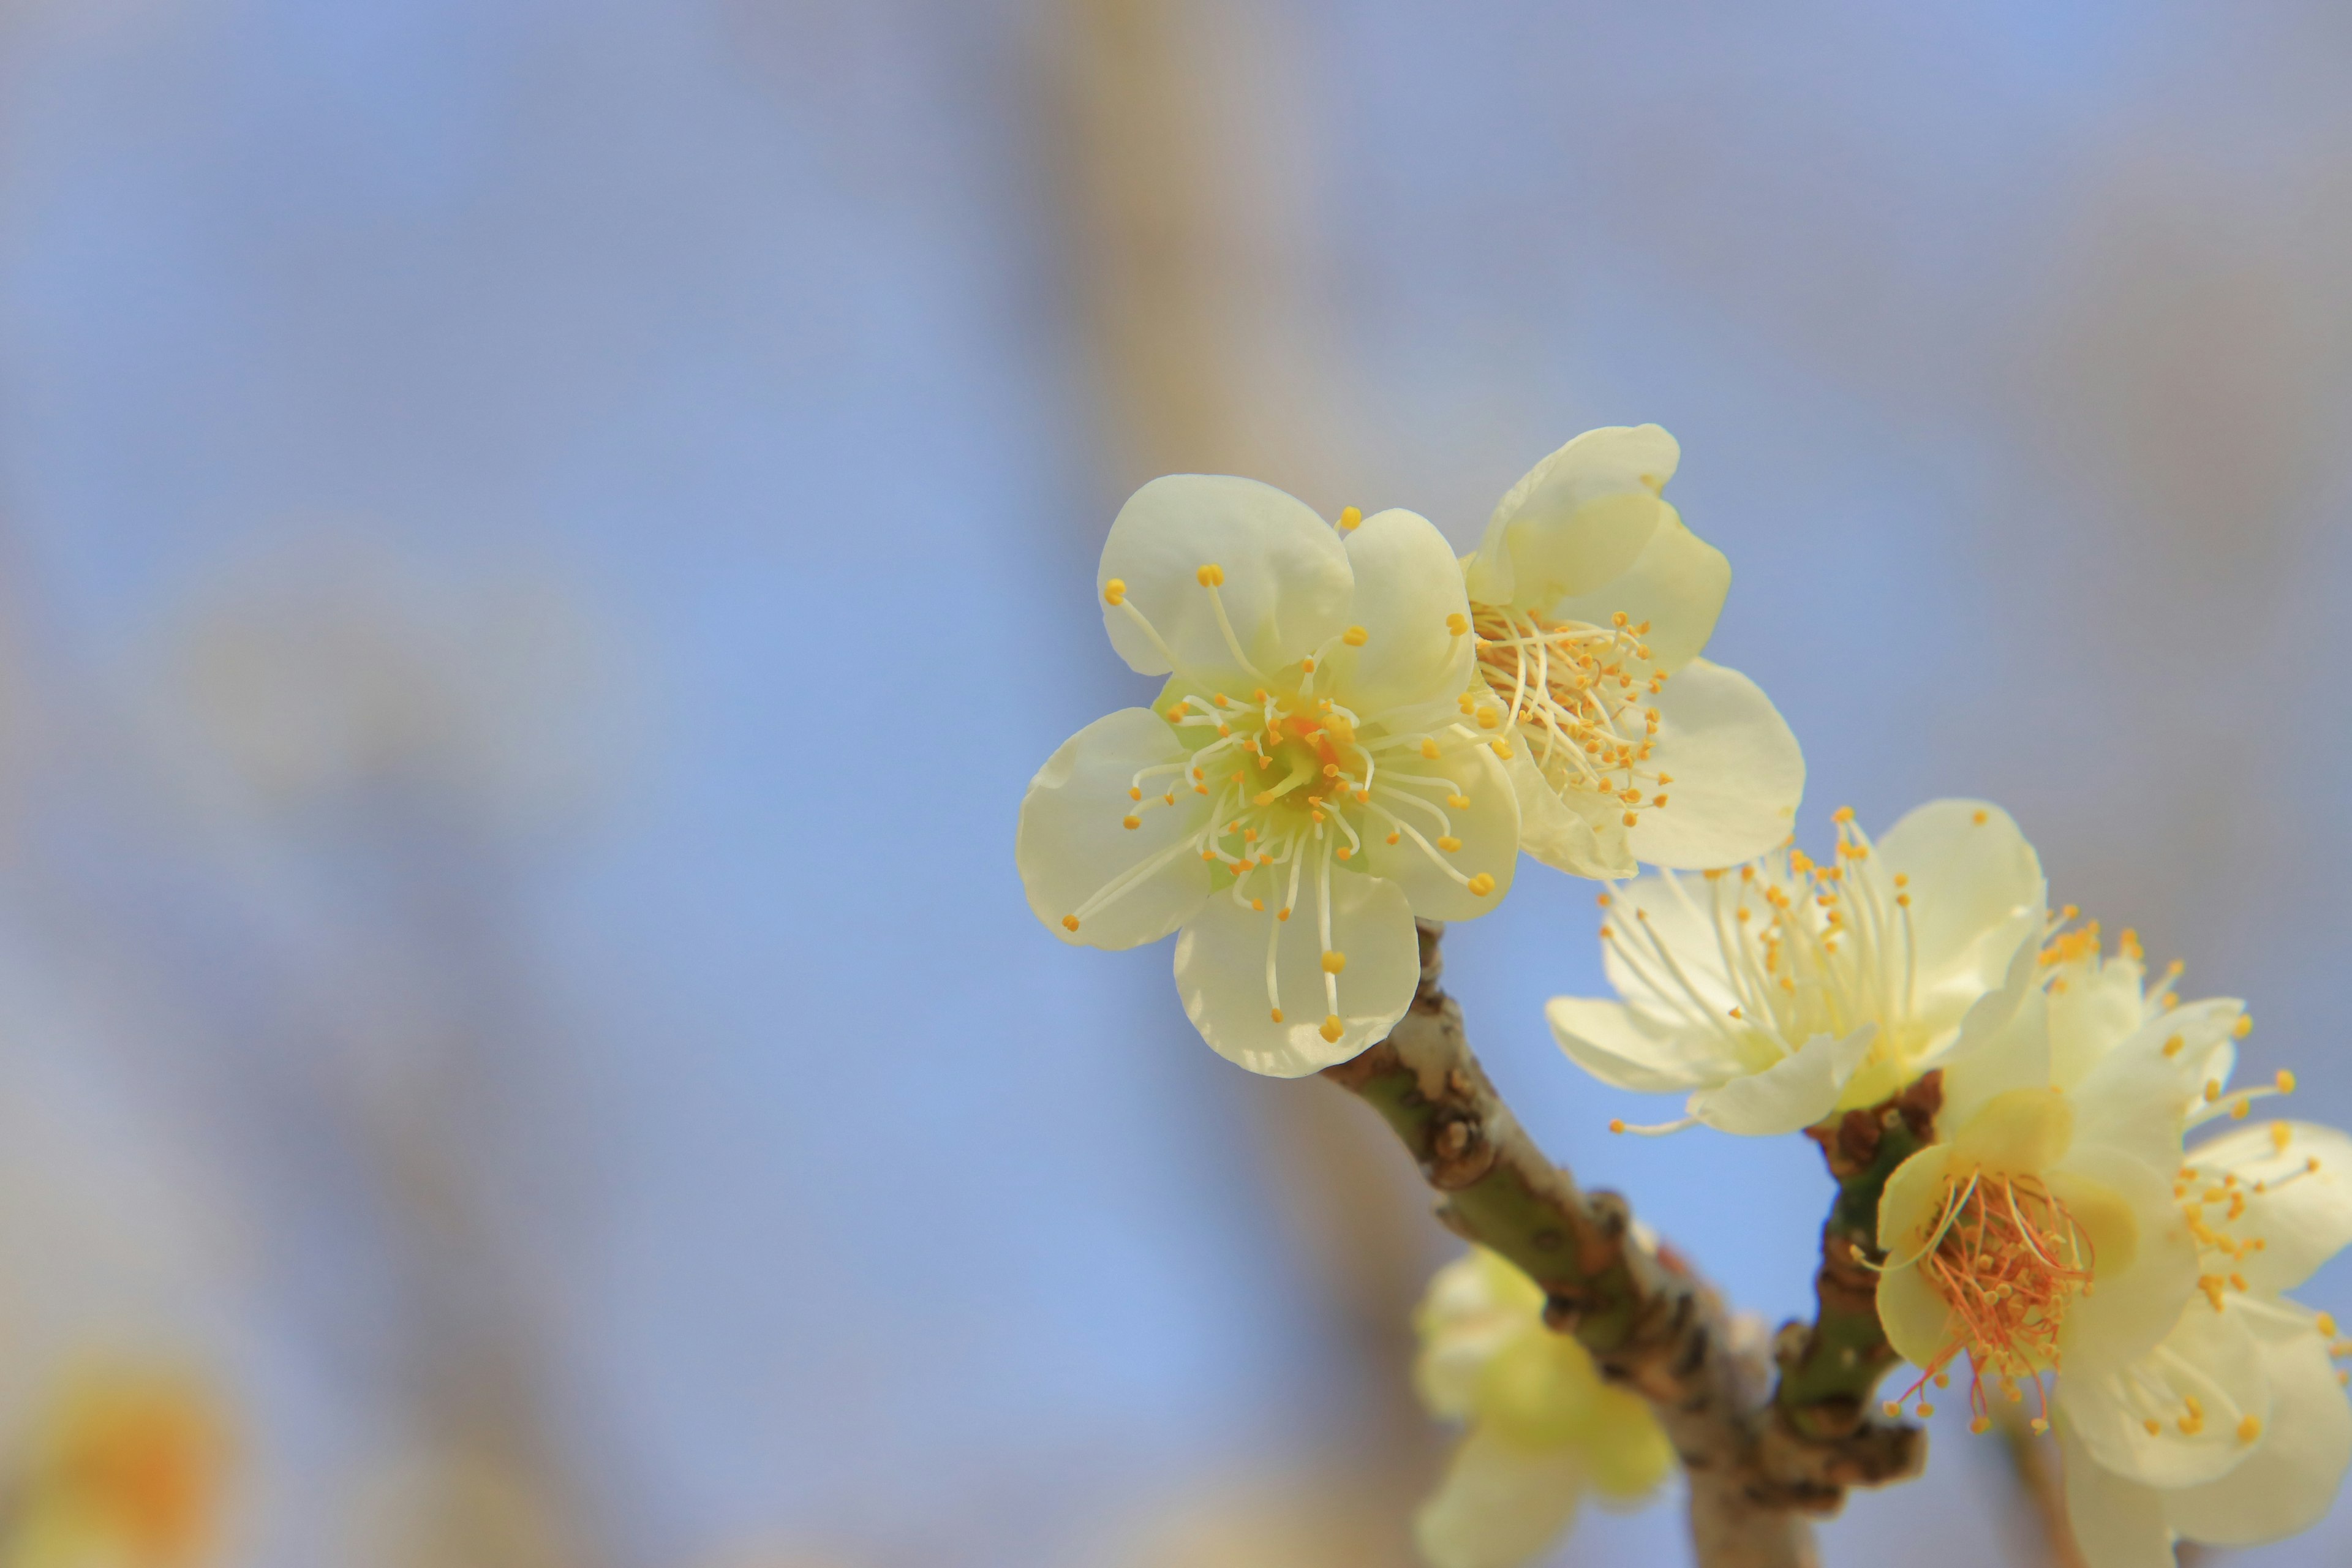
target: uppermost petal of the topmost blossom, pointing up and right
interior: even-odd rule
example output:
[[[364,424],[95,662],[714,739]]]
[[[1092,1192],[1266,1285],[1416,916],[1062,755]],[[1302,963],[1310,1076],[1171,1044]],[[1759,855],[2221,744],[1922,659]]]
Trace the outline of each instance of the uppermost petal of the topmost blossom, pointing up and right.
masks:
[[[1479,604],[1545,609],[1618,578],[1665,508],[1682,449],[1658,425],[1585,430],[1510,487],[1465,564]]]

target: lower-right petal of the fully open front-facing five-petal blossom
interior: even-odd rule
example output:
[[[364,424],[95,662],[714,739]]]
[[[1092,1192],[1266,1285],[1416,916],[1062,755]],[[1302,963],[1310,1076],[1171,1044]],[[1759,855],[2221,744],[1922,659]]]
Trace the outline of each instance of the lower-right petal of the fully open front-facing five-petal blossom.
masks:
[[[1454,745],[1435,762],[1402,752],[1395,766],[1421,778],[1451,778],[1458,797],[1470,804],[1451,806],[1425,785],[1383,785],[1374,773],[1371,804],[1388,816],[1374,811],[1357,818],[1364,823],[1364,867],[1404,889],[1421,919],[1475,919],[1503,903],[1519,863],[1519,797],[1501,759],[1484,745]],[[1442,809],[1444,825],[1428,806],[1414,802]],[[1390,835],[1395,844],[1388,842]],[[1449,837],[1461,846],[1446,849]],[[1494,884],[1484,893],[1472,893],[1446,875],[1449,865],[1470,879],[1486,875]]]

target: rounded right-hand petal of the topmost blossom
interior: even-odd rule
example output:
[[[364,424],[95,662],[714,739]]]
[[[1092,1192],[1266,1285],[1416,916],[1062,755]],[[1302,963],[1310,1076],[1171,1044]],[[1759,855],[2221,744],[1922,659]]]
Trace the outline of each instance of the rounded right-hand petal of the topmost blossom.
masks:
[[[1804,799],[1804,752],[1764,691],[1696,658],[1653,698],[1651,762],[1675,783],[1642,811],[1632,853],[1649,865],[1705,870],[1755,860],[1788,842]]]

